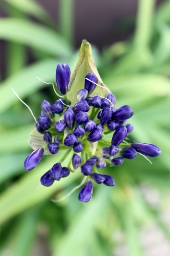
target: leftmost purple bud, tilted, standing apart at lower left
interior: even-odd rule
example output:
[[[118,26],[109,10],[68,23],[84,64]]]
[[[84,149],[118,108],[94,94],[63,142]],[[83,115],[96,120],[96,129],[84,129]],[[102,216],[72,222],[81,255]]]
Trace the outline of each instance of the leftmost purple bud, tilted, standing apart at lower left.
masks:
[[[26,171],[31,171],[34,169],[38,163],[41,161],[41,158],[44,153],[44,148],[38,148],[37,150],[33,151],[24,161],[24,167]]]

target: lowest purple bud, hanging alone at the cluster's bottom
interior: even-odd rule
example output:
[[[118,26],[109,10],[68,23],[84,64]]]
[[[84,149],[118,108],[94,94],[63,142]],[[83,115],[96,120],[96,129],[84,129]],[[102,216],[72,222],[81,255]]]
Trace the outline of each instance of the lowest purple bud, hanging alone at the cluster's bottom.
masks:
[[[93,184],[91,181],[88,181],[79,193],[79,201],[87,203],[90,201],[93,194]]]

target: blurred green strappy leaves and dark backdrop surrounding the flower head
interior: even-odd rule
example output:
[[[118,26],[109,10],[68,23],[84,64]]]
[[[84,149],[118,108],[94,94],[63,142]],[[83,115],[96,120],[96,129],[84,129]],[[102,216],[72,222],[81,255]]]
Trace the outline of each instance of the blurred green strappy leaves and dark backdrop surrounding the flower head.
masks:
[[[0,255],[170,255],[170,1],[0,1]],[[79,172],[50,188],[39,179],[56,156],[26,173],[25,158],[41,102],[56,97],[58,63],[73,72],[82,39],[92,52],[117,107],[135,110],[131,138],[156,144],[151,165],[139,156],[107,168],[116,186],[95,186],[83,204],[75,191]]]

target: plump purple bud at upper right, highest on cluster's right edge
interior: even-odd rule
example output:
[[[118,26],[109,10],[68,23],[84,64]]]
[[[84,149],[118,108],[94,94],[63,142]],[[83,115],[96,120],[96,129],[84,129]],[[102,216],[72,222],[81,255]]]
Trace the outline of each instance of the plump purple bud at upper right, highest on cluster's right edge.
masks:
[[[113,120],[115,121],[122,121],[129,119],[133,116],[134,111],[128,105],[124,105],[121,108],[117,109],[116,112],[113,114]]]

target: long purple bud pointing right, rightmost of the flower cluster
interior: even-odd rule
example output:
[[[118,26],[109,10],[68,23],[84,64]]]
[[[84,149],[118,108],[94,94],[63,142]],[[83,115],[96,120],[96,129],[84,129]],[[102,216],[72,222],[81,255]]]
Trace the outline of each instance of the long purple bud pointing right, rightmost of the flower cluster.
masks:
[[[131,146],[135,148],[137,152],[145,156],[155,157],[162,153],[160,148],[153,144],[135,142],[132,143]]]

